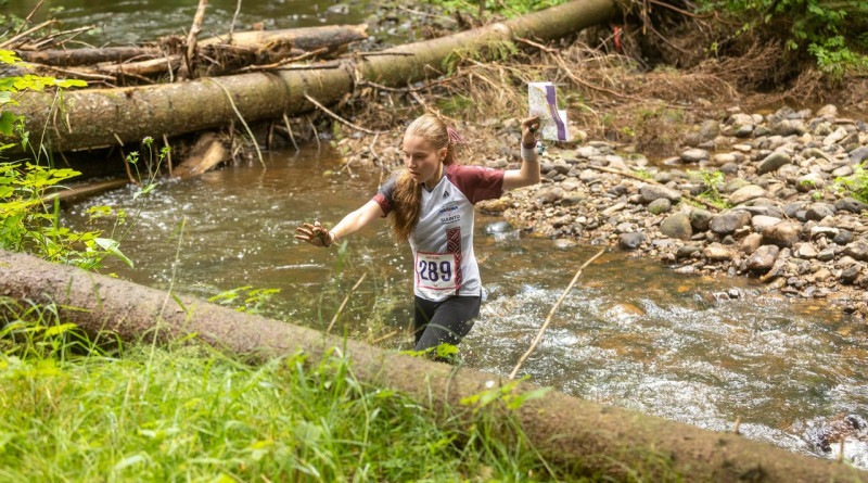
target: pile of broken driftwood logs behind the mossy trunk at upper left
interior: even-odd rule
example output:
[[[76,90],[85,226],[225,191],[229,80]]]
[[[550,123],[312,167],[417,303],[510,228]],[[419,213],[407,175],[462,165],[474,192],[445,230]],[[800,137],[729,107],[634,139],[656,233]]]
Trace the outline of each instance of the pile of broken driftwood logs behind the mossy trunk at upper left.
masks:
[[[40,24],[39,29],[27,30],[28,36],[13,37],[0,48],[14,50],[36,73],[108,87],[309,68],[297,63],[334,56],[346,50],[348,43],[368,37],[367,25],[362,24],[239,31],[197,42],[167,36],[142,46],[65,49],[54,43],[64,38],[61,34],[68,36],[81,29],[52,34],[53,25],[53,22]],[[39,39],[30,37],[40,33]]]

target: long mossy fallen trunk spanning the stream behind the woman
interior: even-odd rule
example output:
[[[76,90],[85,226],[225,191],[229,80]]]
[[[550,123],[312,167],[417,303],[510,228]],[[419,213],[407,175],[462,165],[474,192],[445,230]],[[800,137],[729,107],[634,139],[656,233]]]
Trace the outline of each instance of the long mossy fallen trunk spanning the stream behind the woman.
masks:
[[[396,47],[375,56],[347,59],[339,68],[278,71],[226,76],[219,82],[232,93],[227,98],[210,79],[183,84],[120,89],[67,91],[73,102],[65,116],[52,114],[53,96],[27,92],[14,113],[24,115],[31,132],[46,124],[47,141],[54,151],[100,148],[117,140],[135,141],[145,136],[180,135],[227,125],[235,117],[232,104],[247,122],[280,118],[314,109],[305,93],[322,104],[332,104],[350,91],[357,79],[404,87],[408,82],[437,77],[443,62],[456,52],[473,52],[514,37],[558,39],[612,17],[614,0],[577,0],[505,23],[462,31],[448,37]],[[234,36],[233,36],[234,41]]]

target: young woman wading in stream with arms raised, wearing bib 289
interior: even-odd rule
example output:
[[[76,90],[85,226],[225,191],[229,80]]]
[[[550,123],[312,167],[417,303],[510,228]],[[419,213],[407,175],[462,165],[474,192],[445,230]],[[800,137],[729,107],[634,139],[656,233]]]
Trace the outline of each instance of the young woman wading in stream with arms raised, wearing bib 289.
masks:
[[[460,166],[455,144],[463,142],[439,118],[425,114],[404,134],[406,167],[380,187],[376,195],[346,215],[334,228],[318,221],[296,229],[295,238],[330,246],[376,218],[392,215],[398,241],[413,254],[416,351],[443,343],[457,345],[480,315],[482,284],[473,254],[473,205],[500,198],[506,190],[539,182],[535,131],[539,118],[522,122],[522,166],[499,170]],[[436,358],[436,354],[432,354]]]

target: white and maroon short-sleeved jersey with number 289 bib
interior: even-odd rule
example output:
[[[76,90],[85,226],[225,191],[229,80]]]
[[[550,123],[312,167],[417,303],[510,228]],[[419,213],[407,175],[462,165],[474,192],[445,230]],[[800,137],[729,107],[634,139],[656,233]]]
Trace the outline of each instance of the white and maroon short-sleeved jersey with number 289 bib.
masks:
[[[481,166],[445,166],[446,173],[429,191],[422,187],[419,223],[410,233],[413,292],[439,302],[451,295],[482,294],[480,267],[473,253],[473,205],[503,194],[503,171]],[[373,196],[383,213],[394,206],[396,178]]]

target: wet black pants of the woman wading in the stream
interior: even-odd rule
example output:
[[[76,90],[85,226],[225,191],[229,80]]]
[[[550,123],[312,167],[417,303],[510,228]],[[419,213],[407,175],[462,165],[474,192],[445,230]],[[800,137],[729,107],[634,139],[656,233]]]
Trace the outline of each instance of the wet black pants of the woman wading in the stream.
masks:
[[[416,351],[425,351],[443,343],[458,345],[480,316],[480,296],[450,296],[441,302],[416,297],[413,334]]]

